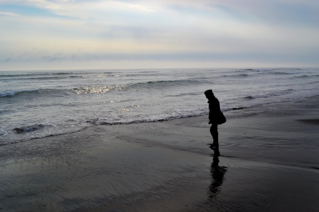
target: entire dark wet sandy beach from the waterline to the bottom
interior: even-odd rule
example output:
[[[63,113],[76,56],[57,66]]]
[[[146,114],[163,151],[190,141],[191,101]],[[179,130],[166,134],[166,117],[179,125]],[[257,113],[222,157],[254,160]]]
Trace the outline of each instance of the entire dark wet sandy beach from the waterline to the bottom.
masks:
[[[318,211],[319,99],[0,146],[0,211]]]

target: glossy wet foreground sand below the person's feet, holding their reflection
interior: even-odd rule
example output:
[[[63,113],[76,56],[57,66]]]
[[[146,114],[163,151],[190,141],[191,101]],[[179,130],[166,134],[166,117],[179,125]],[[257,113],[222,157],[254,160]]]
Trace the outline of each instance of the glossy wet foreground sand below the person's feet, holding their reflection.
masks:
[[[317,171],[123,144],[114,140],[55,158],[15,161],[15,169],[2,170],[11,174],[2,174],[1,207],[8,212],[317,209]]]

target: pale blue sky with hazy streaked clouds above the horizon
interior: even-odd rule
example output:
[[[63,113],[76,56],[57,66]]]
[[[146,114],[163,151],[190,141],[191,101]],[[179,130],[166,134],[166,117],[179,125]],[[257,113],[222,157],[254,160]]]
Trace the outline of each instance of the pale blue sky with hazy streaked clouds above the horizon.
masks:
[[[317,0],[0,0],[0,70],[319,67]]]

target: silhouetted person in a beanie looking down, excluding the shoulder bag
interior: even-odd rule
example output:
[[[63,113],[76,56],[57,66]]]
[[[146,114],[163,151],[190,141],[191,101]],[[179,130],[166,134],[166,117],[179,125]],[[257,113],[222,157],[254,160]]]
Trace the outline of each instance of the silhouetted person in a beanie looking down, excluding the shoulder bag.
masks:
[[[212,93],[212,90],[206,90],[205,96],[208,99],[209,104],[209,123],[211,124],[210,127],[210,134],[212,136],[213,142],[210,144],[210,148],[214,150],[215,154],[219,155],[219,143],[218,143],[218,129],[217,129],[217,115],[220,113],[220,104],[218,99]]]

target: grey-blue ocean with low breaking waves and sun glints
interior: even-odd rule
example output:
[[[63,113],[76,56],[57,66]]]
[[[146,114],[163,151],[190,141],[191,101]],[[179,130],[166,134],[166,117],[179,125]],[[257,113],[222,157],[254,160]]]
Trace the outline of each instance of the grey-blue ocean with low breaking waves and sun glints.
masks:
[[[319,96],[319,69],[0,71],[0,145]]]

